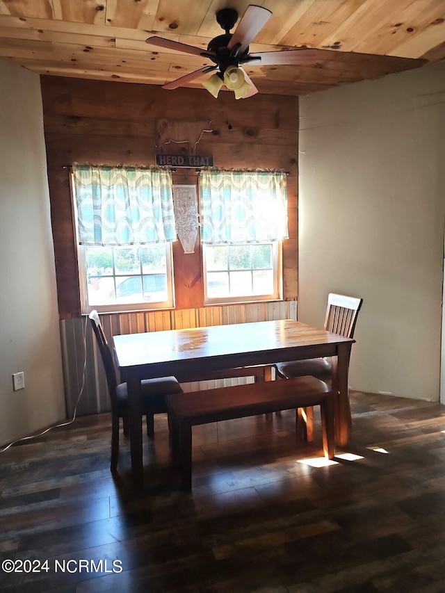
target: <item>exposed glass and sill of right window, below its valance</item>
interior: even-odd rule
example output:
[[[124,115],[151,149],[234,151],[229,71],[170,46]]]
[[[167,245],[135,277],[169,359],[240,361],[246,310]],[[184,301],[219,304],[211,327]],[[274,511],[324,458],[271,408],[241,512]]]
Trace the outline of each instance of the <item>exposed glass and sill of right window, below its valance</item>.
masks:
[[[203,245],[204,302],[282,298],[281,243]]]

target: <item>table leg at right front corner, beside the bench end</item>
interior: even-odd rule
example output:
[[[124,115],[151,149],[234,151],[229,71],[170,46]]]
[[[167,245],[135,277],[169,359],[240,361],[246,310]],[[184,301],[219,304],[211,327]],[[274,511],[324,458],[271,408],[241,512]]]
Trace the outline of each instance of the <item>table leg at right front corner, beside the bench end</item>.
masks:
[[[340,343],[337,346],[337,369],[332,377],[333,387],[338,391],[335,405],[335,442],[338,446],[347,445],[349,440],[348,371],[351,346],[349,342]]]

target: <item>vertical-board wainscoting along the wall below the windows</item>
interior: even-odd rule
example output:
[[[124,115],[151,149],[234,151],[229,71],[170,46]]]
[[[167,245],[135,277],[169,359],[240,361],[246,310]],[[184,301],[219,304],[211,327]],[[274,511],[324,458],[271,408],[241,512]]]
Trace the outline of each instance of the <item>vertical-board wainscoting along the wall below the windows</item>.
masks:
[[[296,318],[296,301],[233,304],[224,307],[175,311],[140,311],[101,316],[104,332],[110,343],[112,336],[119,334]],[[109,403],[106,378],[88,317],[61,320],[60,332],[68,416],[71,417],[74,413],[78,399],[77,415],[107,412]],[[184,391],[196,391],[252,381],[252,377],[238,377],[186,383],[183,384],[183,388]],[[81,393],[80,398],[79,393]]]

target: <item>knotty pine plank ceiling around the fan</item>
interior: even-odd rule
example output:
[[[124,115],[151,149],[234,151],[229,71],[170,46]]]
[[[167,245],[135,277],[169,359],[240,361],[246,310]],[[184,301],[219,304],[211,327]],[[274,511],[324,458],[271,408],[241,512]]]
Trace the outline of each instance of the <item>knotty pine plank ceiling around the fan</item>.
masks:
[[[162,85],[210,62],[150,47],[147,37],[154,34],[207,49],[209,40],[223,33],[216,11],[235,8],[241,17],[249,3],[0,0],[0,56],[38,74]],[[245,67],[260,92],[304,95],[445,58],[445,0],[255,3],[271,10],[273,17],[250,51],[325,50],[305,65]],[[426,60],[412,60],[422,57]],[[199,88],[204,77],[187,86]]]

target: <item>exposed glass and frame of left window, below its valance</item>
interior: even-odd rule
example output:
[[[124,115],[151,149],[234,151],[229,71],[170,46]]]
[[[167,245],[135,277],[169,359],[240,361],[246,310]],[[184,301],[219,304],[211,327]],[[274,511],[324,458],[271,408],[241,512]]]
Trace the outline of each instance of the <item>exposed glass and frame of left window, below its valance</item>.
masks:
[[[173,307],[169,243],[79,247],[83,311]]]

